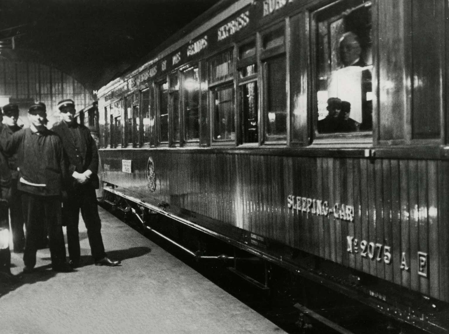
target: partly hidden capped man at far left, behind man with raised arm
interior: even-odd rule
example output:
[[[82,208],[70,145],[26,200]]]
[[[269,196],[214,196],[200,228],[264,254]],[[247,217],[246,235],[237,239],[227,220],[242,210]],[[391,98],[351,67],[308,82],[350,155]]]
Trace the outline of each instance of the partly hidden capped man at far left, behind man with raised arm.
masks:
[[[4,131],[12,135],[21,130],[17,125],[19,119],[19,107],[17,104],[9,103],[3,107]],[[17,153],[7,155],[9,169],[11,170],[11,201],[9,203],[9,214],[11,216],[11,232],[13,233],[14,252],[21,253],[25,247],[25,234],[23,233],[22,200],[17,190],[18,170]]]

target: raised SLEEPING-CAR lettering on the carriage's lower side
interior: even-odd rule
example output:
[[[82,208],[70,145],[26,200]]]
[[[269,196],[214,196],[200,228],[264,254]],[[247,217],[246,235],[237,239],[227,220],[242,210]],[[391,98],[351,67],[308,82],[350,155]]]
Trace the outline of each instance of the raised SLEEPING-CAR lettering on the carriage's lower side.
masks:
[[[312,198],[288,195],[287,207],[291,210],[310,212],[317,216],[328,216],[334,213],[334,217],[345,221],[354,220],[354,206],[347,204],[335,203],[333,207],[329,207],[328,201],[315,200]]]

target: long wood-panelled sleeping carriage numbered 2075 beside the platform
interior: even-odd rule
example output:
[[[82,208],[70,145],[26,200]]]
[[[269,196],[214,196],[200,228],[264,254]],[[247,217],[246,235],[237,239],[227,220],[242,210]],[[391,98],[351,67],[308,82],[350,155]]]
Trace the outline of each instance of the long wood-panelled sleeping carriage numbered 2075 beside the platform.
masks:
[[[447,333],[447,13],[219,2],[98,91],[106,193]]]

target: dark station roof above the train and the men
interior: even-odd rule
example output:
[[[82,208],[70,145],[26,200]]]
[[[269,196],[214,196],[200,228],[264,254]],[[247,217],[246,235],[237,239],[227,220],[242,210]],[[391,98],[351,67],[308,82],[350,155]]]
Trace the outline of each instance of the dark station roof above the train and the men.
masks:
[[[218,2],[2,0],[0,60],[53,65],[98,89]]]

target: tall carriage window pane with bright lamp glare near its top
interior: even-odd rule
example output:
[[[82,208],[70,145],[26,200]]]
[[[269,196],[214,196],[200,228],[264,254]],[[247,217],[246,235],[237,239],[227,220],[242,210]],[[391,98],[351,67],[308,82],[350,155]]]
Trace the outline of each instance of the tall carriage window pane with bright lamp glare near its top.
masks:
[[[199,71],[192,68],[184,72],[184,137],[199,139]]]

